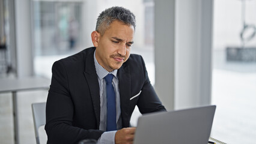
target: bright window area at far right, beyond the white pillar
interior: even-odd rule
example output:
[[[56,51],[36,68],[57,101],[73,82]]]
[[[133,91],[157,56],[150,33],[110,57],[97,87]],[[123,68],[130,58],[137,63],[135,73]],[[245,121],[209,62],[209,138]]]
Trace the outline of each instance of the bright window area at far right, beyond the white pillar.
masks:
[[[245,2],[245,15],[242,2]],[[226,143],[254,143],[255,139],[256,37],[246,42],[244,48],[240,39],[243,17],[246,23],[256,25],[255,5],[256,1],[215,0],[212,103],[217,109],[212,137]],[[248,29],[246,37],[253,31]],[[246,57],[242,58],[235,47],[254,50],[240,53]]]

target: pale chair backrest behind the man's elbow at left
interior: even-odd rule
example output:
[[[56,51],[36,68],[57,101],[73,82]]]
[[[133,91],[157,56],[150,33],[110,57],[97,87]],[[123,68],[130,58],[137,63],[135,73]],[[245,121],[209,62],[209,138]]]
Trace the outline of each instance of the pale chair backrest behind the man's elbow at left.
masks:
[[[33,113],[34,128],[35,128],[35,140],[37,141],[37,144],[40,143],[39,135],[38,135],[39,127],[41,127],[42,125],[45,125],[46,123],[45,110],[46,110],[46,103],[32,103],[32,113]]]

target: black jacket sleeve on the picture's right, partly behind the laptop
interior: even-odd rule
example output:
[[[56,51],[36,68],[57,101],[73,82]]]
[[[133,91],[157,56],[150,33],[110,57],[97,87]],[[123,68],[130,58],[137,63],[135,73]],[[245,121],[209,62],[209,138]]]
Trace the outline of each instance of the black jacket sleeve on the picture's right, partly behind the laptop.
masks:
[[[148,78],[148,73],[145,67],[145,62],[141,57],[142,67],[144,72],[144,85],[141,89],[141,94],[139,96],[139,100],[137,106],[139,111],[143,113],[151,113],[151,112],[160,112],[166,111],[165,107],[162,105],[159,97],[154,91],[153,86],[150,83],[150,79]]]

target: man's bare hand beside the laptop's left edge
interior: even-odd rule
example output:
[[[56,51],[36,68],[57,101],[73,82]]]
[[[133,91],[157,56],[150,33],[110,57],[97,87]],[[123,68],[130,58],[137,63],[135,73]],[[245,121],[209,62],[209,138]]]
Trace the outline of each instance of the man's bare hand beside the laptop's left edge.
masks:
[[[135,134],[135,127],[122,128],[115,133],[115,144],[132,144]]]

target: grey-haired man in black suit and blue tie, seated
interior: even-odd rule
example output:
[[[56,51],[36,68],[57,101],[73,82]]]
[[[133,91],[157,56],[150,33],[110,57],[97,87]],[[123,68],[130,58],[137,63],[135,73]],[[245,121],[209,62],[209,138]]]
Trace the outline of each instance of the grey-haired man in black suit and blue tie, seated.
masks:
[[[47,143],[132,143],[135,128],[129,128],[130,117],[136,105],[142,114],[165,111],[142,57],[130,55],[134,32],[133,13],[108,8],[91,34],[94,47],[53,64]]]

